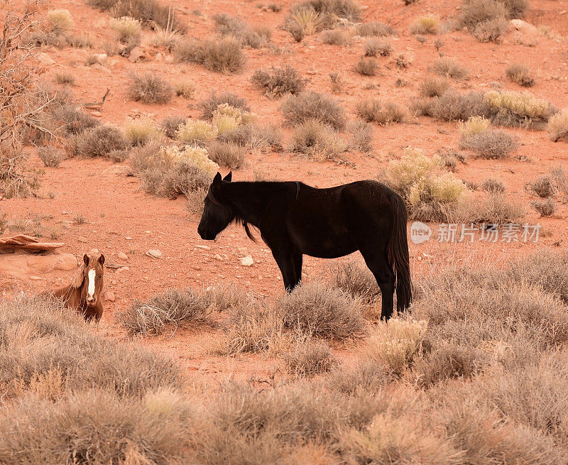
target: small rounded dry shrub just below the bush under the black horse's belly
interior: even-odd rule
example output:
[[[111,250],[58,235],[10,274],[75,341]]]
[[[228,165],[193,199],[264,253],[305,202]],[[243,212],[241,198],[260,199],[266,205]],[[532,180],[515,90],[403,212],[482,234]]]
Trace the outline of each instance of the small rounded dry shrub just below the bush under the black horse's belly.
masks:
[[[295,344],[290,351],[283,354],[285,370],[291,375],[311,377],[325,373],[337,363],[331,349],[324,341],[307,339]]]

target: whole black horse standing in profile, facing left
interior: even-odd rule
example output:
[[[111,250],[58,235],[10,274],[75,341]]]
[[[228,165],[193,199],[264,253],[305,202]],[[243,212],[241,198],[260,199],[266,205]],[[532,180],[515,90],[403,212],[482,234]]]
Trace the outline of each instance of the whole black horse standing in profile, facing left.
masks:
[[[337,258],[361,251],[381,288],[381,317],[412,301],[406,209],[403,199],[376,181],[316,189],[302,182],[231,182],[215,175],[197,228],[202,239],[213,240],[231,221],[244,226],[254,241],[255,226],[271,248],[286,290],[302,278],[302,255]]]

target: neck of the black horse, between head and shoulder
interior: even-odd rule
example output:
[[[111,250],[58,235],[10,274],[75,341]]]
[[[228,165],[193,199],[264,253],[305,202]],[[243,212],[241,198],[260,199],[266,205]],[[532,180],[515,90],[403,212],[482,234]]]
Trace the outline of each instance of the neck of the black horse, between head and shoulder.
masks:
[[[285,182],[231,182],[226,185],[226,196],[237,218],[258,226],[271,199],[278,196],[282,201],[288,190]]]

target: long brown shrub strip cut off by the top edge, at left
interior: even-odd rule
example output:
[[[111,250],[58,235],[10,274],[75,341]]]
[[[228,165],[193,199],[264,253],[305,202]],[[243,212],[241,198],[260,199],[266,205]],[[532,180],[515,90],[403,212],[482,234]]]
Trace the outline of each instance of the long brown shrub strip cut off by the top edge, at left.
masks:
[[[187,31],[175,9],[161,5],[157,0],[89,0],[87,3],[99,10],[110,11],[116,18],[130,16],[148,27],[160,26],[180,33]]]

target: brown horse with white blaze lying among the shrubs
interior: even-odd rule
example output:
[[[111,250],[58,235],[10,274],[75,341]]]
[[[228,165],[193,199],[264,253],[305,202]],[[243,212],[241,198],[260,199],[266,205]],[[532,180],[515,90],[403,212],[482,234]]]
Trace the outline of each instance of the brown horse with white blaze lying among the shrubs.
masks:
[[[70,285],[47,292],[62,299],[67,307],[77,310],[84,319],[98,322],[103,307],[100,297],[104,276],[104,255],[97,252],[85,253],[83,264]]]

